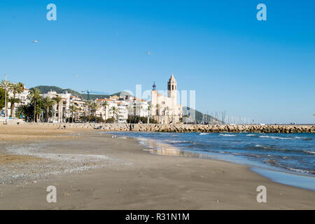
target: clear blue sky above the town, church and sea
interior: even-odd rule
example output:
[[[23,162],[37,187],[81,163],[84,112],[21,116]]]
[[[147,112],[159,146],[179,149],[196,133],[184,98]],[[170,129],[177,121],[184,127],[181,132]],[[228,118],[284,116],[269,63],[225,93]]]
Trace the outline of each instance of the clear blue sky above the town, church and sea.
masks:
[[[48,3],[57,21],[46,20]],[[267,21],[256,20],[258,3]],[[166,89],[173,72],[200,111],[315,123],[314,10],[311,0],[1,0],[0,74],[27,87],[117,92],[153,80]]]

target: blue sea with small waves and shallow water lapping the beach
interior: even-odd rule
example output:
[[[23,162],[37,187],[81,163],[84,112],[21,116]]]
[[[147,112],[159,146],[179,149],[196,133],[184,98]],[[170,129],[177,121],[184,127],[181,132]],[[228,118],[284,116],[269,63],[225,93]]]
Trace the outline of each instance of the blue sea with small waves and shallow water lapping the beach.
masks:
[[[248,165],[272,181],[315,190],[315,134],[111,132],[159,155]]]

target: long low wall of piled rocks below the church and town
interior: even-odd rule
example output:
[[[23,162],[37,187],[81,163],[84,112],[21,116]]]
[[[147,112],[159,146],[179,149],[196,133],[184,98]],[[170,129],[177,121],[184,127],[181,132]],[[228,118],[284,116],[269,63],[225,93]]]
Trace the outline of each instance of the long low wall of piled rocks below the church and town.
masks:
[[[54,125],[118,132],[259,132],[259,133],[315,133],[315,125],[161,125],[161,124],[94,124],[94,123],[38,123],[34,125]]]

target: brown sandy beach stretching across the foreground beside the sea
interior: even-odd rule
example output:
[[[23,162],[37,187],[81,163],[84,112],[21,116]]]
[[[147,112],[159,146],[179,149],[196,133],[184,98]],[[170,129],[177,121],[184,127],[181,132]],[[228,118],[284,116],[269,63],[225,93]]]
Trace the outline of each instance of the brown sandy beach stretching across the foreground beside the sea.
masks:
[[[0,125],[0,209],[314,209],[315,193],[229,162],[153,155],[99,130]],[[57,188],[57,203],[46,188]],[[267,203],[256,188],[266,186]]]

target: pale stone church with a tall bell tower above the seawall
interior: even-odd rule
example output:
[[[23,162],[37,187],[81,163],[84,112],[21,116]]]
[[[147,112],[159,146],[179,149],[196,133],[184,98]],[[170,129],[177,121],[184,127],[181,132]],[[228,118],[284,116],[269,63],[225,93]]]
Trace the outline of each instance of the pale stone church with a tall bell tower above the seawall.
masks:
[[[183,109],[181,104],[177,104],[177,83],[173,76],[169,78],[167,83],[167,97],[155,90],[151,91],[151,116],[158,123],[169,124],[179,123],[183,117]]]

